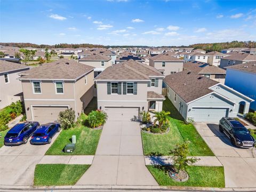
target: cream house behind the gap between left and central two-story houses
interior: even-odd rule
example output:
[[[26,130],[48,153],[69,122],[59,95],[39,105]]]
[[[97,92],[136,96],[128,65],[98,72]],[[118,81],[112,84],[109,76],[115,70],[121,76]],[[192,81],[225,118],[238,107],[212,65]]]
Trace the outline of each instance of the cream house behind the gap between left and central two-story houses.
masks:
[[[112,65],[111,58],[100,53],[93,53],[78,59],[78,62],[94,67],[94,77],[97,77],[104,69]]]

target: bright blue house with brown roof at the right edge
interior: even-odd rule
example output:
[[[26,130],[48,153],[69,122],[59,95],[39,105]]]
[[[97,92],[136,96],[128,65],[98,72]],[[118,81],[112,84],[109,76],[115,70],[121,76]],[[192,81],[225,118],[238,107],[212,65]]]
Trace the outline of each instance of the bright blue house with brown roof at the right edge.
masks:
[[[227,67],[225,85],[256,100],[256,61]],[[244,105],[239,113],[244,113]],[[256,111],[256,101],[251,102],[250,111]]]

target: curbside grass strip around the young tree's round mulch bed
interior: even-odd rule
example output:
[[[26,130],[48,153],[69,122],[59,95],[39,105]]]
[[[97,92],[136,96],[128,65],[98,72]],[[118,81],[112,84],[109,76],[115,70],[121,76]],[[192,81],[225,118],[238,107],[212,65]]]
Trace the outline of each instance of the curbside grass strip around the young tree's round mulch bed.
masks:
[[[177,182],[168,175],[170,167],[148,165],[148,170],[160,186],[225,187],[224,168],[222,166],[189,166],[189,180]]]

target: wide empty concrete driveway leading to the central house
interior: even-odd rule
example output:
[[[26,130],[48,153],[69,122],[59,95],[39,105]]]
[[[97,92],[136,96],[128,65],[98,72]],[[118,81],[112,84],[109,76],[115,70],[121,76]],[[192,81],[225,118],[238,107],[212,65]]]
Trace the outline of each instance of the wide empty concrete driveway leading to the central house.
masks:
[[[93,163],[77,185],[158,185],[145,166],[139,124],[108,120]]]

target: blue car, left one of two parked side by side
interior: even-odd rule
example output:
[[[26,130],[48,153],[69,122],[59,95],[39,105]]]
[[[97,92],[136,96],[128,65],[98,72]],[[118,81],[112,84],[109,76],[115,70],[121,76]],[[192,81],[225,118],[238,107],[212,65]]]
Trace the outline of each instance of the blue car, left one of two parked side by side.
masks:
[[[18,123],[10,129],[4,137],[5,146],[26,144],[30,136],[39,126],[38,122]]]

